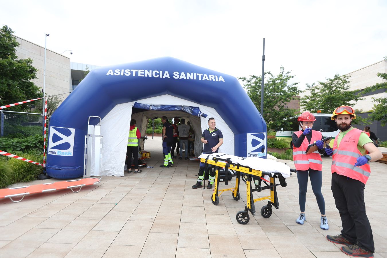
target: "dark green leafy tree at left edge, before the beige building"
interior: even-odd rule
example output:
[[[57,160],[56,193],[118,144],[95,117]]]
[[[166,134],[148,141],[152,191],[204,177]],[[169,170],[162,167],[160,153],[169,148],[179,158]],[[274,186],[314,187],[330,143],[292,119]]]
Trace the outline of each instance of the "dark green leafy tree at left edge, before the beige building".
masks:
[[[18,59],[16,48],[20,45],[12,36],[12,29],[4,25],[0,29],[0,106],[43,96],[36,79],[37,69],[31,58]],[[9,108],[13,111],[27,111],[27,105]]]

